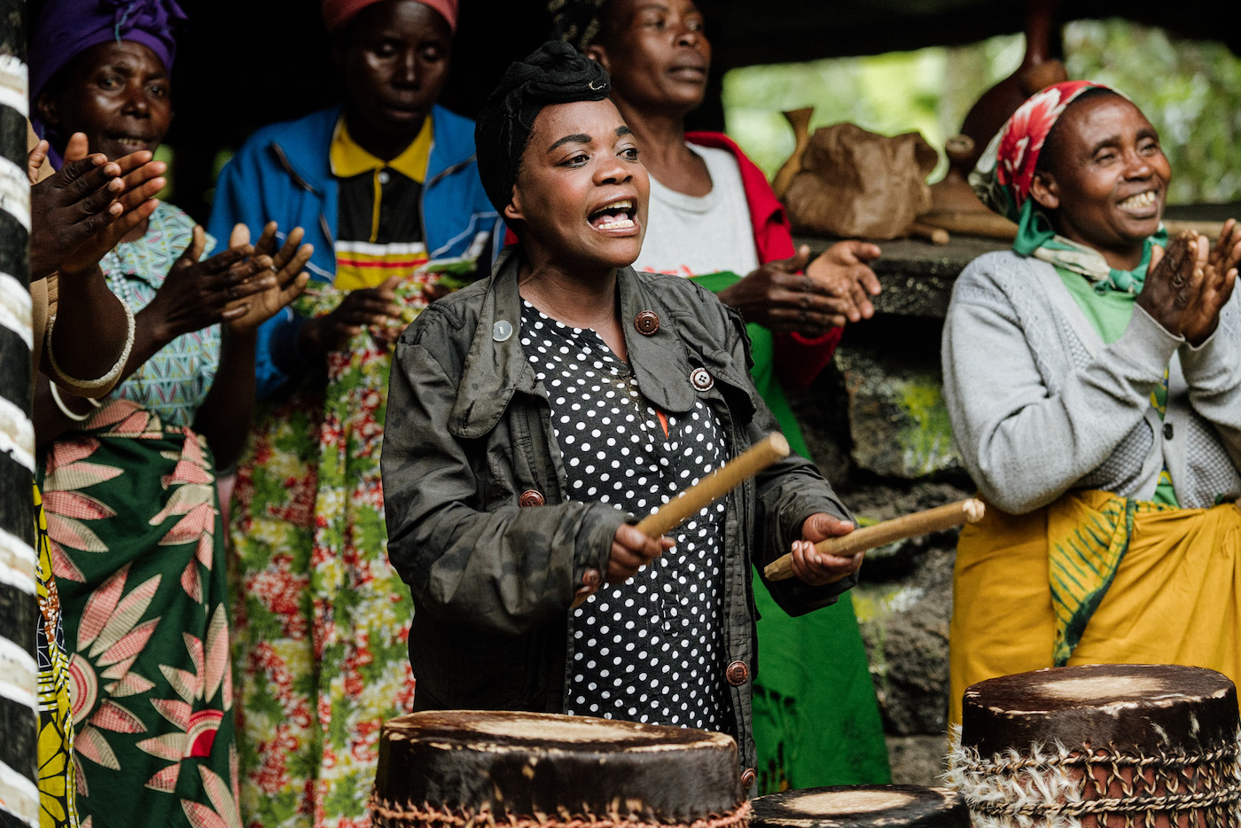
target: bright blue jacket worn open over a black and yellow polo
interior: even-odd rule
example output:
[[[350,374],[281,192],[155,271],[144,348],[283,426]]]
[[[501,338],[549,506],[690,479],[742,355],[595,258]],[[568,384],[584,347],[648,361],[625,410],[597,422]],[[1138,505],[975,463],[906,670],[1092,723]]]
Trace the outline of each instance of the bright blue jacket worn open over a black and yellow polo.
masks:
[[[336,179],[328,150],[340,107],[256,132],[225,165],[216,181],[208,232],[228,238],[244,223],[252,237],[277,221],[283,232],[300,226],[314,256],[307,269],[314,281],[335,278]],[[495,207],[483,191],[474,160],[474,122],[443,107],[432,110],[432,146],[422,190],[422,228],[432,259],[463,256],[480,232],[503,232]],[[305,320],[285,308],[259,328],[254,353],[258,396],[266,397],[290,377],[282,366],[303,365],[297,348]]]

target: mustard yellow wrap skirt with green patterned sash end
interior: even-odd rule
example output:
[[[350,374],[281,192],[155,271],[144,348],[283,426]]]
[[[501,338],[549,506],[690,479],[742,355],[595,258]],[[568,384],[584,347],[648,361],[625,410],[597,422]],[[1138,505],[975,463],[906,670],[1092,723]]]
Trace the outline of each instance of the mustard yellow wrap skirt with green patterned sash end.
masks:
[[[957,544],[949,722],[975,682],[1064,664],[1188,664],[1241,684],[1241,509],[1070,492],[988,506]]]

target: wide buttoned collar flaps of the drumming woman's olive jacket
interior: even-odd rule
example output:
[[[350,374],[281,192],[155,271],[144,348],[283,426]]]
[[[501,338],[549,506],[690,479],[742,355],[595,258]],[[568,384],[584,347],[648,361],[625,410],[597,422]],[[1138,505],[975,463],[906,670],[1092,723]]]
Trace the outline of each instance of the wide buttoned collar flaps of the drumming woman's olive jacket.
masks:
[[[546,397],[521,349],[520,264],[521,247],[510,245],[491,271],[457,401],[448,417],[448,431],[455,437],[477,439],[490,432],[517,391]],[[617,289],[629,366],[638,387],[663,411],[689,411],[697,392],[690,385],[692,366],[676,334],[675,318],[630,267],[617,273]],[[634,326],[634,319],[643,310],[653,310],[659,317],[659,329],[649,336],[639,334]],[[503,341],[496,339],[500,322],[511,326],[511,334]]]

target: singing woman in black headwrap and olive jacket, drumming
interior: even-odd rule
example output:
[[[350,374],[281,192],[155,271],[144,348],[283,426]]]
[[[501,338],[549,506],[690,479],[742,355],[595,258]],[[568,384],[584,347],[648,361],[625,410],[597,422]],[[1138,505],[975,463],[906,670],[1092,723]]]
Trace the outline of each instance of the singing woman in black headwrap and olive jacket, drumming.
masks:
[[[853,583],[860,556],[813,551],[853,526],[800,458],[674,538],[627,521],[776,423],[737,314],[629,267],[649,185],[608,86],[563,43],[510,67],[475,139],[520,243],[397,343],[383,488],[416,606],[414,704],[722,730],[753,767],[752,560],[792,549],[798,578],[772,591],[807,611]],[[591,597],[571,611],[577,593]]]

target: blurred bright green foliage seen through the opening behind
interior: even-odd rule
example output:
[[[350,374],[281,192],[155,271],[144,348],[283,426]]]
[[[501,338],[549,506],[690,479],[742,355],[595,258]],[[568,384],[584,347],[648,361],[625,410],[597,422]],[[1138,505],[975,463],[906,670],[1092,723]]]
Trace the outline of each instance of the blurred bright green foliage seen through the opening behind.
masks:
[[[1070,77],[1112,84],[1145,112],[1172,160],[1169,201],[1241,199],[1241,58],[1217,42],[1173,40],[1124,20],[1065,26]],[[1020,35],[964,47],[733,70],[724,79],[728,133],[768,175],[793,150],[782,110],[814,107],[810,129],[853,122],[895,135],[920,132],[937,150],[973,103],[1008,77]],[[944,169],[932,173],[937,180]]]

